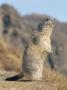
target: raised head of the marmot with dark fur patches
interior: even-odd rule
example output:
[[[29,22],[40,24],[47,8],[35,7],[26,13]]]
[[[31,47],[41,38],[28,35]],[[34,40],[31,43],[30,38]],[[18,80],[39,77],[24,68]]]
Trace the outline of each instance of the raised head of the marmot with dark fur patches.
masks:
[[[43,32],[45,34],[52,33],[52,30],[54,26],[56,25],[56,19],[55,18],[46,18],[45,20],[42,20],[37,28],[35,29],[37,32]]]

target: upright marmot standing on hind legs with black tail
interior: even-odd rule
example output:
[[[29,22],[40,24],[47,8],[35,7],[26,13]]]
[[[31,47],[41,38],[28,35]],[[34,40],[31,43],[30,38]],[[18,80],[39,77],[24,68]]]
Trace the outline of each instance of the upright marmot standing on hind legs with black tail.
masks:
[[[32,41],[27,45],[23,55],[22,72],[19,75],[9,77],[6,80],[18,80],[26,77],[28,80],[42,80],[43,62],[51,49],[51,33],[55,26],[55,20],[47,18],[33,31]]]

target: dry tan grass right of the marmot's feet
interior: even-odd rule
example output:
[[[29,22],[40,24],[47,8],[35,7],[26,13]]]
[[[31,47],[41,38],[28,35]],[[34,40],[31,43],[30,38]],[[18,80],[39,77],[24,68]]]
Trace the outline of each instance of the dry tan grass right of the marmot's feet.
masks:
[[[67,78],[58,72],[45,69],[44,79],[46,82],[56,85],[58,90],[67,90]]]

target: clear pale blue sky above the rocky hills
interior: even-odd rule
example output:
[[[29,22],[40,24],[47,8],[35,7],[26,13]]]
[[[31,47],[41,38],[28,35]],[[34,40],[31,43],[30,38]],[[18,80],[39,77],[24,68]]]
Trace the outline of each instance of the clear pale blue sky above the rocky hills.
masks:
[[[22,15],[39,13],[67,22],[67,0],[0,0],[13,5]]]

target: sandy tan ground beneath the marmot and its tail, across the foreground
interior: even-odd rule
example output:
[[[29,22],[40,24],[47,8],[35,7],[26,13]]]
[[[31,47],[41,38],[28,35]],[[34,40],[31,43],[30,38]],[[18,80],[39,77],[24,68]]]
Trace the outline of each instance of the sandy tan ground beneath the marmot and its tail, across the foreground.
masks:
[[[17,72],[0,70],[0,90],[67,90],[67,78],[63,76],[51,76],[43,81],[5,81],[5,78],[13,76]]]

